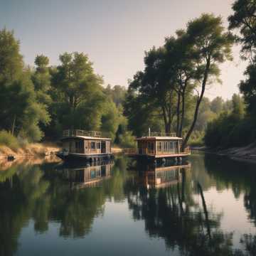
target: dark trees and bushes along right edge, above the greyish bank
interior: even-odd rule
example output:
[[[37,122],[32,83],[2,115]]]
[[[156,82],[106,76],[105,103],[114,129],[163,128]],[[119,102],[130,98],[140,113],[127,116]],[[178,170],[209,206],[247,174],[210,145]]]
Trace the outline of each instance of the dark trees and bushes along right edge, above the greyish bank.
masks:
[[[233,97],[232,111],[208,124],[205,142],[211,147],[245,146],[256,139],[256,1],[235,1],[228,21],[230,30],[239,31],[235,39],[248,66],[238,85],[242,98]]]

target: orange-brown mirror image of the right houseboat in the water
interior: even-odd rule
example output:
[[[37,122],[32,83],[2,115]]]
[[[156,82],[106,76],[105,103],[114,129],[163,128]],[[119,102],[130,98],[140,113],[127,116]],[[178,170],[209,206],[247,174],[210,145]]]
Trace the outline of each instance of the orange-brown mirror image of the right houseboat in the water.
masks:
[[[139,184],[146,188],[165,188],[174,185],[182,181],[184,171],[191,172],[191,164],[188,162],[174,164],[170,161],[161,166],[148,164],[137,168]]]

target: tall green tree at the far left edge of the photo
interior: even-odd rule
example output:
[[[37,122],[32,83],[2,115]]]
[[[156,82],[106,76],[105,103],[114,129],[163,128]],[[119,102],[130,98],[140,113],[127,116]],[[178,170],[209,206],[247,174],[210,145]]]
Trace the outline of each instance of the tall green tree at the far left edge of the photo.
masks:
[[[31,70],[23,65],[13,32],[0,31],[0,49],[0,128],[23,139],[40,140],[43,133],[38,123],[47,124],[50,117],[37,100]]]

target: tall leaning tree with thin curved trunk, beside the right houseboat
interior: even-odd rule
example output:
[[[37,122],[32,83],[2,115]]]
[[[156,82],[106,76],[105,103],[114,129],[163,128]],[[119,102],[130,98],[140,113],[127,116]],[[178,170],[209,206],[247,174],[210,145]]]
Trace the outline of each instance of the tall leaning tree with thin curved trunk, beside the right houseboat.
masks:
[[[198,60],[200,91],[198,91],[193,122],[183,140],[183,148],[188,143],[188,139],[196,125],[199,107],[207,84],[211,79],[218,79],[220,74],[218,64],[223,63],[225,60],[232,60],[231,47],[234,41],[231,33],[225,32],[221,18],[215,17],[213,14],[203,14],[200,18],[190,21],[187,33],[191,38]]]

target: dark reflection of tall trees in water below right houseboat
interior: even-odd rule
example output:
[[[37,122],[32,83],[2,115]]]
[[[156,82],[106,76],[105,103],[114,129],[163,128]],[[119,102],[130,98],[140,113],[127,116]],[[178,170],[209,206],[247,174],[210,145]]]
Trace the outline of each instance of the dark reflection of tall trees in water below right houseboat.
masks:
[[[173,167],[170,167],[171,171]],[[136,220],[144,220],[150,236],[163,238],[166,247],[178,248],[181,255],[233,255],[232,233],[220,230],[220,213],[208,210],[203,189],[198,183],[203,207],[193,200],[193,183],[189,169],[179,168],[181,178],[165,188],[151,188],[127,184],[129,208]],[[155,176],[161,168],[155,169]],[[145,171],[137,176],[145,176]],[[145,182],[144,182],[145,184]],[[129,186],[133,186],[130,190]],[[134,188],[137,188],[134,189]],[[132,193],[131,193],[132,191]]]

